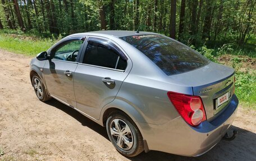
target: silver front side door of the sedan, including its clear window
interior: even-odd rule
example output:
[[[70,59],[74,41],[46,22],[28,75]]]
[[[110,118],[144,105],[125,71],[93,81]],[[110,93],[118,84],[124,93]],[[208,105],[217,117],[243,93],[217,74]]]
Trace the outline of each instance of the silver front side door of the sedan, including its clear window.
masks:
[[[49,94],[76,107],[74,94],[74,72],[77,67],[77,55],[83,40],[70,38],[51,49],[51,57],[44,65],[44,78]]]

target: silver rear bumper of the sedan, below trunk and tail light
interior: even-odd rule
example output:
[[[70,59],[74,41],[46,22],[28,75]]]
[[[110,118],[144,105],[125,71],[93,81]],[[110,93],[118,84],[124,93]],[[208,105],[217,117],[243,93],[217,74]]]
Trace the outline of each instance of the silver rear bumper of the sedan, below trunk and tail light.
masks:
[[[149,150],[184,156],[199,156],[211,150],[222,139],[235,119],[238,99],[235,95],[228,107],[213,121],[189,126],[181,117],[163,125],[141,123]]]

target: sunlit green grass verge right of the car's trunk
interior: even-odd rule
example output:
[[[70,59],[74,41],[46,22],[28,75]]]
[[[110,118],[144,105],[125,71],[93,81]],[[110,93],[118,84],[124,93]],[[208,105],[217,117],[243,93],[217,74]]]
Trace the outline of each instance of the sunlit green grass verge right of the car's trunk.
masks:
[[[243,107],[256,110],[256,58],[244,56],[244,54],[237,56],[232,51],[223,52],[222,49],[219,49],[216,52],[207,47],[198,50],[213,62],[235,68],[235,94]]]

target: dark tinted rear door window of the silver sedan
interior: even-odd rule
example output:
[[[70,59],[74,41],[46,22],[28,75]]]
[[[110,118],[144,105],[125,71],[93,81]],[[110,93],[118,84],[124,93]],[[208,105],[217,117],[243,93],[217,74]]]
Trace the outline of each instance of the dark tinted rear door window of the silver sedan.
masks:
[[[118,70],[125,70],[127,66],[127,61],[123,60],[115,49],[95,42],[88,42],[83,63]]]

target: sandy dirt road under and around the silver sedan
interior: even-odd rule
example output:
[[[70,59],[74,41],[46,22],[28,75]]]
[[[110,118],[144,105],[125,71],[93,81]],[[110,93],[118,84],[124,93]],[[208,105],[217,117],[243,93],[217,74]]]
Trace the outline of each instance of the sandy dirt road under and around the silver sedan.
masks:
[[[104,127],[54,99],[36,98],[30,59],[0,50],[0,160],[256,160],[256,114],[243,108],[233,124],[236,139],[220,141],[201,157],[150,151],[125,158]]]

